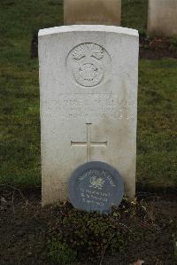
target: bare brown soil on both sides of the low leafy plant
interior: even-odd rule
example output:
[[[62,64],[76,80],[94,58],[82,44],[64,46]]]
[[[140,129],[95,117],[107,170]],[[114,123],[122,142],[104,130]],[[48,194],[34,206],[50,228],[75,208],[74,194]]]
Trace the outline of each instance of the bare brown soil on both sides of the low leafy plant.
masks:
[[[0,198],[0,264],[54,264],[48,254],[48,233],[56,222],[57,207],[41,207],[40,189],[19,191],[1,187]],[[127,265],[138,259],[150,265],[177,264],[173,249],[177,227],[176,197],[151,194],[145,201],[149,221],[140,216],[130,220],[133,234],[124,255],[108,257],[105,254],[104,265]],[[83,257],[81,264],[89,262]]]

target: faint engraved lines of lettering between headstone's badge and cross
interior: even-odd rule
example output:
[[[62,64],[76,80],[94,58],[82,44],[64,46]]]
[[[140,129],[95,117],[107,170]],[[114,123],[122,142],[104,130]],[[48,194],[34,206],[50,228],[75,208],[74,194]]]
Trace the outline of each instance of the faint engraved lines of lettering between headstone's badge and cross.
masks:
[[[62,94],[57,99],[42,101],[46,117],[58,116],[60,119],[88,117],[130,119],[134,114],[135,102],[121,100],[109,94]]]

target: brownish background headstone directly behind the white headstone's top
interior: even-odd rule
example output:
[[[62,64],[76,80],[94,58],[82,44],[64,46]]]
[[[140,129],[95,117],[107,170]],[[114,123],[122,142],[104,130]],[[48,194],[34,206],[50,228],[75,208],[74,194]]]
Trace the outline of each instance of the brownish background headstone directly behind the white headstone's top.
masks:
[[[65,0],[64,24],[120,25],[121,0]]]

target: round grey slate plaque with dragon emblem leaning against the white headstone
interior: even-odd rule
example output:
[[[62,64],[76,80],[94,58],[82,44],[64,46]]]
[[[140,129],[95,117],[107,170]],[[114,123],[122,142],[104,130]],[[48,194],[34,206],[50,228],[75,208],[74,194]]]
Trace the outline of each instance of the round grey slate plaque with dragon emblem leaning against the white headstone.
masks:
[[[87,212],[109,214],[124,196],[119,172],[104,162],[89,162],[77,168],[69,181],[69,199],[73,207]]]

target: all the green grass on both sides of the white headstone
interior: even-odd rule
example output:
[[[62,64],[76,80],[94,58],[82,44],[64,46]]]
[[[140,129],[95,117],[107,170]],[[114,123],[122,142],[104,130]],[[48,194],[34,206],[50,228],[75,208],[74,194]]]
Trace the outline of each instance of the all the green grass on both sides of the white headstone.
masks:
[[[123,0],[122,25],[146,27],[147,1]],[[62,1],[1,0],[0,183],[41,185],[38,61],[31,40],[43,27],[62,25]],[[141,60],[137,182],[174,187],[177,60]]]

